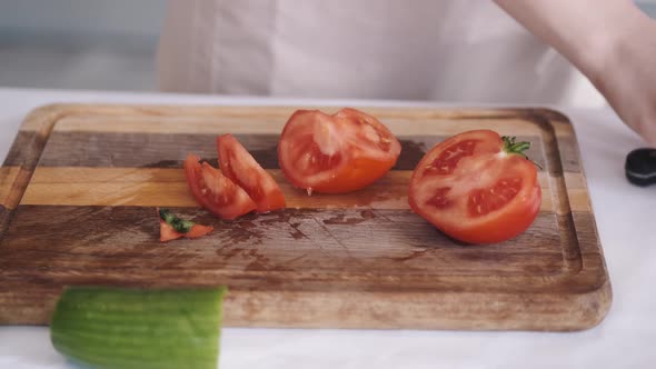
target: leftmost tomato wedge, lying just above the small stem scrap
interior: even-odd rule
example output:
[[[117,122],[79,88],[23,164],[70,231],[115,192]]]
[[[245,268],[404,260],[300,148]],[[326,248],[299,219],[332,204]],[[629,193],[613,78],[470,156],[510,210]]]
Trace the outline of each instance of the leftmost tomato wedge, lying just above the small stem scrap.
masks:
[[[235,219],[256,209],[248,193],[195,154],[185,160],[185,174],[199,206],[222,219]]]

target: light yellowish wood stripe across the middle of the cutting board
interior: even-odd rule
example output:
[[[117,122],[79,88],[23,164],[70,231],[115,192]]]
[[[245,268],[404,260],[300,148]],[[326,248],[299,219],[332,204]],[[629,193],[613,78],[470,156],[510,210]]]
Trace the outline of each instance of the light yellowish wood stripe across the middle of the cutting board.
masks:
[[[216,161],[216,160],[215,160]],[[12,169],[13,167],[6,167]],[[374,184],[340,196],[294,188],[279,169],[268,170],[280,184],[289,208],[376,208],[409,210],[406,189],[413,172],[392,170]],[[566,172],[569,203],[554,202],[549,174],[540,172],[540,210],[568,213],[589,211],[589,198],[580,173]],[[180,168],[38,167],[22,197],[22,205],[195,207]]]

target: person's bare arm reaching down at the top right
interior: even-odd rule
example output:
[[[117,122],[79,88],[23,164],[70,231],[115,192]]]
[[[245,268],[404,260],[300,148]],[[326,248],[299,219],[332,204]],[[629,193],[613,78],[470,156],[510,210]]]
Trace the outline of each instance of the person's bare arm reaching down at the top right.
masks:
[[[606,97],[656,146],[656,22],[630,0],[496,0]]]

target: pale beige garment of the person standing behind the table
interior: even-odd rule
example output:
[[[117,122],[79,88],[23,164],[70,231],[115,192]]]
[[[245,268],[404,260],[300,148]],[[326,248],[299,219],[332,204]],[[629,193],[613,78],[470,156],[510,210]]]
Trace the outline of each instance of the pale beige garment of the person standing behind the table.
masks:
[[[594,91],[485,0],[170,0],[158,80],[177,92],[456,102],[571,104]]]

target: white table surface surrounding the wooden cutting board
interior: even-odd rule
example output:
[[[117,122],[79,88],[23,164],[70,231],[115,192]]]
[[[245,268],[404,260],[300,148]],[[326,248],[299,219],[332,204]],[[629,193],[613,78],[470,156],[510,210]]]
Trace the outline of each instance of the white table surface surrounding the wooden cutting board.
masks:
[[[0,159],[28,111],[52,102],[427,106],[0,88]],[[610,273],[613,306],[599,326],[569,333],[225,328],[220,368],[656,368],[656,186],[624,178],[626,154],[645,143],[609,109],[559,110],[576,129]],[[0,368],[69,367],[48,328],[0,327]]]

